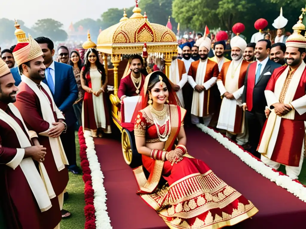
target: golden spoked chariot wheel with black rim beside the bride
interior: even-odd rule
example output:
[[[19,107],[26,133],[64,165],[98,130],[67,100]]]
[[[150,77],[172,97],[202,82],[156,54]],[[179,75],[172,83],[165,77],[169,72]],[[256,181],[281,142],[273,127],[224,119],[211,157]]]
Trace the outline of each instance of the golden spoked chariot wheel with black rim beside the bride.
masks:
[[[127,129],[122,130],[121,144],[125,163],[132,168],[140,166],[141,155],[137,152],[134,136]]]

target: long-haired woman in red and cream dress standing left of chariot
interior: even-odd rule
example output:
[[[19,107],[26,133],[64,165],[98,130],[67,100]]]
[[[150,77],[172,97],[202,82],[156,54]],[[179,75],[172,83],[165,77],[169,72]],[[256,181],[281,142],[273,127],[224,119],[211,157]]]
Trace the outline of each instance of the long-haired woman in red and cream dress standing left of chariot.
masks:
[[[87,50],[80,75],[81,85],[85,91],[82,109],[83,129],[90,130],[93,137],[97,136],[98,129],[104,133],[111,133],[106,93],[107,78],[97,50]],[[102,137],[101,131],[99,137]]]

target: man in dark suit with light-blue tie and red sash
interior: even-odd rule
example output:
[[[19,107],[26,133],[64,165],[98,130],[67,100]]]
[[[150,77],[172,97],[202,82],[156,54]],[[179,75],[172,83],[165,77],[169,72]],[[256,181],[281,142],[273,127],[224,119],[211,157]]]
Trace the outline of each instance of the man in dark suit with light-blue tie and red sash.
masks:
[[[257,61],[249,64],[244,81],[242,94],[245,122],[249,132],[250,152],[260,158],[256,151],[261,129],[266,121],[265,109],[267,106],[264,91],[273,71],[282,65],[269,59],[271,42],[259,40],[255,47]]]

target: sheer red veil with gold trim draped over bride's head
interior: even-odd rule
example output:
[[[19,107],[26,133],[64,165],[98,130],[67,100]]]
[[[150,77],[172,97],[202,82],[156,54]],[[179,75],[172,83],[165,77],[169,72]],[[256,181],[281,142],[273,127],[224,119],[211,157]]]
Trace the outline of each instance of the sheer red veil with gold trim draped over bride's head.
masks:
[[[145,81],[144,81],[144,86],[143,86],[143,88],[141,89],[141,92],[140,92],[140,98],[137,102],[137,105],[135,107],[135,110],[134,110],[134,113],[133,113],[133,116],[132,116],[132,121],[131,122],[133,122],[133,123],[135,122],[138,111],[140,111],[140,110],[142,110],[142,109],[144,109],[145,107],[148,106],[149,93],[148,93],[147,88],[148,88],[148,84],[150,82],[151,76],[155,76],[155,75],[162,76],[163,81],[165,79],[168,80],[167,76],[161,71],[154,71],[154,72],[152,72],[152,73],[150,73],[149,75],[146,76]],[[172,91],[172,88],[168,88],[168,90],[169,90],[169,96],[168,96],[169,103],[168,104],[181,106],[180,101],[179,101],[176,93]]]

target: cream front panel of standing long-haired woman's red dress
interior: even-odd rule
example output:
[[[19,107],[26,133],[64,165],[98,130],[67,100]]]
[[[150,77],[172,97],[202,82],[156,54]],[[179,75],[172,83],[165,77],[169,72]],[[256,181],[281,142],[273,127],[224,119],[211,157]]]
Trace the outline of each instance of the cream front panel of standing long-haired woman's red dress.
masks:
[[[90,79],[91,79],[91,89],[93,91],[98,91],[102,87],[102,75],[98,71],[98,69],[90,69]],[[95,122],[97,124],[97,128],[106,128],[106,117],[104,110],[104,94],[101,93],[98,97],[92,94],[92,101],[94,105],[94,113],[95,113]]]

